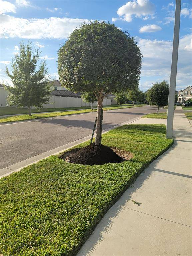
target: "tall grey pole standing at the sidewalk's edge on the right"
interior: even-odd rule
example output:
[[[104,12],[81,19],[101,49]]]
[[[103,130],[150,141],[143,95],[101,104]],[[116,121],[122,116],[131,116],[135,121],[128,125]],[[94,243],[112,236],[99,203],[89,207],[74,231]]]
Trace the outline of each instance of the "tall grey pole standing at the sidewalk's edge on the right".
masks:
[[[180,14],[181,14],[181,0],[176,0],[175,24],[174,24],[174,35],[173,35],[173,52],[172,52],[169,99],[168,99],[168,109],[167,109],[167,128],[166,128],[167,139],[171,139],[173,137],[173,115],[174,115],[175,87],[176,87],[176,77],[177,77]]]

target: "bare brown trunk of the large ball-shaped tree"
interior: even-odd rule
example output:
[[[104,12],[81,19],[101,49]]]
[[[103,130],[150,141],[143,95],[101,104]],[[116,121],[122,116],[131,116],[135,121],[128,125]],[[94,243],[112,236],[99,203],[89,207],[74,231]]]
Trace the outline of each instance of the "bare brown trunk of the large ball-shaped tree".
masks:
[[[102,93],[100,93],[97,101],[97,126],[96,126],[96,136],[95,136],[95,145],[100,146],[101,145],[101,131],[102,131],[102,119],[103,119],[103,97]]]

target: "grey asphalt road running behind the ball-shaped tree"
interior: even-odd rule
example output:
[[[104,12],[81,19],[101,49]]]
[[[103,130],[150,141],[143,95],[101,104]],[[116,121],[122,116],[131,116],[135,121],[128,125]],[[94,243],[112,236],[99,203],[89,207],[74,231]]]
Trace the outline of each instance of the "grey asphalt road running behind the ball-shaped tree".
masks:
[[[145,106],[103,111],[103,129],[156,110]],[[0,169],[92,134],[96,115],[95,112],[1,124]]]

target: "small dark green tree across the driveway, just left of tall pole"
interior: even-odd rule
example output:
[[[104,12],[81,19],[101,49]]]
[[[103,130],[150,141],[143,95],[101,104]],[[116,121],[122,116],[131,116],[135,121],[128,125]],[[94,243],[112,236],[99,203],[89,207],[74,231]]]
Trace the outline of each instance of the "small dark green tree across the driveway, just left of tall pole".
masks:
[[[157,105],[157,114],[159,114],[159,108],[168,104],[169,97],[169,84],[166,81],[161,83],[156,82],[147,91],[147,101],[150,105]]]

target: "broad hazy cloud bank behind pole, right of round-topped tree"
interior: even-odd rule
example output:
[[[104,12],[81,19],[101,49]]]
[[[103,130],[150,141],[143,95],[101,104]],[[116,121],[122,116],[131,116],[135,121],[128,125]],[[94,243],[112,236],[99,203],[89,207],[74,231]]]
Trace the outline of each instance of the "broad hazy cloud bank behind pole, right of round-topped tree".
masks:
[[[141,78],[147,80],[141,84],[146,90],[150,84],[163,79],[169,82],[172,58],[172,42],[136,38],[143,54]],[[179,40],[177,88],[191,85],[191,35],[185,35]],[[191,51],[191,50],[190,50]],[[153,79],[154,77],[154,79]],[[153,80],[152,80],[153,79]]]

